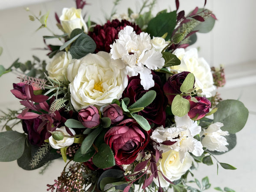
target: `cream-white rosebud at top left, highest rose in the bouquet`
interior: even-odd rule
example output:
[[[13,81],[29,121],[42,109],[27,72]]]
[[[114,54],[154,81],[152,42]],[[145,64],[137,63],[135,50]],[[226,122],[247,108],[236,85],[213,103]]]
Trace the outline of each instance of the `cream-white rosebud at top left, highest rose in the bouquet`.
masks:
[[[66,33],[70,34],[72,30],[84,27],[85,33],[88,33],[88,27],[82,18],[82,10],[72,8],[63,8],[62,15],[59,17],[61,25]]]

